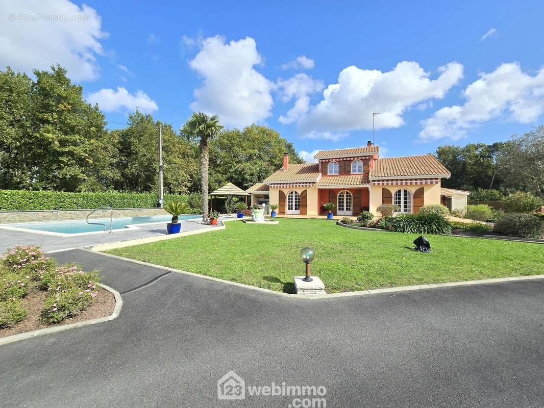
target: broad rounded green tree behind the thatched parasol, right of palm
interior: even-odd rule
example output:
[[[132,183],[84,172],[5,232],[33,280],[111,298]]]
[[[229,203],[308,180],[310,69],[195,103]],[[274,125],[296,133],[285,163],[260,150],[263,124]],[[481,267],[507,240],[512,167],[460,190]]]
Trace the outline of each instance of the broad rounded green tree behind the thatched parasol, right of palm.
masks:
[[[274,129],[257,125],[226,129],[210,143],[212,189],[227,182],[248,189],[279,169],[284,153],[291,163],[303,162],[293,144]]]

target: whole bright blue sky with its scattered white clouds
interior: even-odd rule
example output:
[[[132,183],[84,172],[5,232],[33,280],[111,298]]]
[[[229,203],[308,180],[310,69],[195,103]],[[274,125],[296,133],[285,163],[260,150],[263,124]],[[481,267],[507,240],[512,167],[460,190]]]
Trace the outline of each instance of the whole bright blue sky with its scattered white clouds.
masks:
[[[541,1],[74,3],[3,3],[0,63],[67,66],[110,121],[138,106],[179,128],[202,109],[311,153],[366,144],[378,110],[387,156],[542,123]],[[20,17],[39,13],[86,20]]]

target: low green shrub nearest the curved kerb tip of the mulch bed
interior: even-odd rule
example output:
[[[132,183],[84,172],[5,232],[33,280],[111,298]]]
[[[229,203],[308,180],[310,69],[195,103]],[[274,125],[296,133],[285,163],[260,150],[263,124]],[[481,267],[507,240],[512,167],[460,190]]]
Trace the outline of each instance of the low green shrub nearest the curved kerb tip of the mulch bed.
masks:
[[[75,287],[53,292],[45,298],[41,322],[53,324],[77,316],[90,306],[95,296],[96,292],[87,292]]]

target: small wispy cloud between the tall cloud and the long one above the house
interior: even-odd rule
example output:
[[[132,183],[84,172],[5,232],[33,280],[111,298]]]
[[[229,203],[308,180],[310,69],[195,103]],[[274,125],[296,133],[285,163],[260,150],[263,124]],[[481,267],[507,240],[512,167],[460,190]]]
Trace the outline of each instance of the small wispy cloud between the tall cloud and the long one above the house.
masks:
[[[281,123],[293,123],[301,118],[310,109],[310,95],[322,91],[325,87],[322,81],[316,81],[305,73],[298,73],[289,79],[280,79],[276,82],[280,89],[281,100],[289,102],[294,98],[294,106],[288,110],[285,116],[278,119]]]

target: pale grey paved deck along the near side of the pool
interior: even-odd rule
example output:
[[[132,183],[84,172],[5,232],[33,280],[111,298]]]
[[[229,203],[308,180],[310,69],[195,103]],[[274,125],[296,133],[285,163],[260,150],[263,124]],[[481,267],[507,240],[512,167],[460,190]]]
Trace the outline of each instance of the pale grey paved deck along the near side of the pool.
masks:
[[[209,225],[199,224],[199,219],[181,221],[181,225],[182,232],[213,228]],[[41,245],[46,252],[52,252],[164,235],[166,235],[165,222],[139,224],[138,229],[126,228],[126,231],[100,232],[96,234],[75,235],[73,237],[58,237],[36,232],[0,229],[0,252],[15,245]]]

